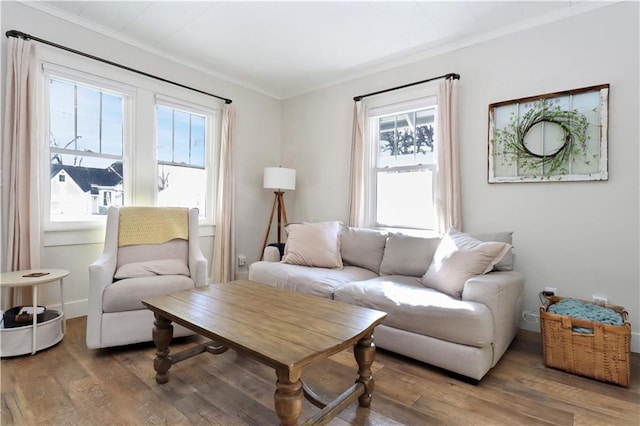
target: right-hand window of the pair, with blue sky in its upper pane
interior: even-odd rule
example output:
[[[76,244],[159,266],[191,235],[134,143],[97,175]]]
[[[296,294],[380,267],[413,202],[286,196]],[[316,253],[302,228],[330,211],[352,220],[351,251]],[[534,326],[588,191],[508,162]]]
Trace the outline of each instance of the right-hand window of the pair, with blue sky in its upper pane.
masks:
[[[159,206],[197,207],[207,216],[207,143],[212,114],[156,106]]]

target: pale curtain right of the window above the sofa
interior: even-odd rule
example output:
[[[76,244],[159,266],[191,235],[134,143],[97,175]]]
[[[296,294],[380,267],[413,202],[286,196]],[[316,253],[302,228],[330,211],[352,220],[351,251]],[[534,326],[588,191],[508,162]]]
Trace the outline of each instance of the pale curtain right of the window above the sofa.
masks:
[[[446,233],[451,227],[462,229],[456,86],[457,80],[445,79],[440,83],[438,93],[436,209],[440,234]]]

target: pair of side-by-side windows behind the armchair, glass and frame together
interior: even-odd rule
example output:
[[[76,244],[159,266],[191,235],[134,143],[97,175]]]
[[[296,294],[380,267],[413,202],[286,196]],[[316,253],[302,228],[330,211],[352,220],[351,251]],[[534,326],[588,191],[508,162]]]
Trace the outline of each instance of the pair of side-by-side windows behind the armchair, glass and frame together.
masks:
[[[200,235],[213,235],[222,103],[57,50],[41,54],[45,245],[99,241],[110,206],[197,207]]]

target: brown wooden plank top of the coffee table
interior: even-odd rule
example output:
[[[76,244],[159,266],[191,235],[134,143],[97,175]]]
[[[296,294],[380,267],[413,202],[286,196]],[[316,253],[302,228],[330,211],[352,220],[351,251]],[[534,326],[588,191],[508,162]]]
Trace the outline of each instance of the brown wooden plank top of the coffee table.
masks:
[[[212,284],[142,303],[274,368],[302,368],[354,345],[385,312],[251,281]]]

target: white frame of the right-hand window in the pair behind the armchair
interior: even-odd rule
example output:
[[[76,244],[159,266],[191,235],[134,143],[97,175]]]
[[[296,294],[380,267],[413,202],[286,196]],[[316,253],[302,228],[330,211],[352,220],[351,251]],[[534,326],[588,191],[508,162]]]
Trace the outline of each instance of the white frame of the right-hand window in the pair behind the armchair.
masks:
[[[181,110],[187,113],[195,113],[200,114],[205,117],[205,175],[206,175],[206,184],[207,184],[207,195],[206,200],[209,202],[206,203],[206,209],[204,212],[204,217],[200,218],[201,225],[214,225],[214,206],[216,203],[215,194],[217,191],[217,182],[218,182],[218,174],[216,173],[215,168],[215,153],[219,152],[220,145],[220,111],[217,109],[213,109],[210,107],[206,107],[204,105],[187,102],[181,99],[177,99],[171,96],[166,96],[163,94],[155,95],[155,104],[154,104],[154,159],[156,163],[156,170],[158,167],[158,117],[157,117],[157,106],[165,106],[168,108],[174,108],[177,110]],[[154,187],[154,205],[157,204],[158,199],[158,188],[157,185]]]

